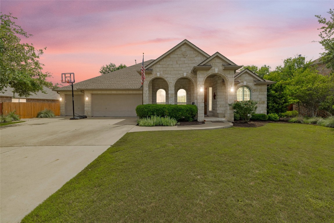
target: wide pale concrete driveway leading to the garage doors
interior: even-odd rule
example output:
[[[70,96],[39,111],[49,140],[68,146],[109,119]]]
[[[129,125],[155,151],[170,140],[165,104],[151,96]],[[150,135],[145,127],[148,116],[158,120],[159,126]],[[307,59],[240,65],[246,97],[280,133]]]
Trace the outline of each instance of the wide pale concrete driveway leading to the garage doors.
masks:
[[[35,119],[0,130],[0,216],[19,222],[110,145],[137,118]]]

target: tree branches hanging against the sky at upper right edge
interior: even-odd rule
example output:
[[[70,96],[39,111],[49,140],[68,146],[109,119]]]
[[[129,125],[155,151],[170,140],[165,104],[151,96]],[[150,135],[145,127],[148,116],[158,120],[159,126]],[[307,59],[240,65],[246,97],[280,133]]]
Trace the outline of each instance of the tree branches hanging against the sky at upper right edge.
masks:
[[[321,38],[318,41],[323,47],[325,52],[321,53],[321,61],[326,64],[327,68],[334,70],[334,11],[329,9],[327,12],[330,14],[330,19],[326,19],[321,17],[321,15],[315,15],[318,18],[318,22],[323,24],[323,26],[319,29],[319,36]]]

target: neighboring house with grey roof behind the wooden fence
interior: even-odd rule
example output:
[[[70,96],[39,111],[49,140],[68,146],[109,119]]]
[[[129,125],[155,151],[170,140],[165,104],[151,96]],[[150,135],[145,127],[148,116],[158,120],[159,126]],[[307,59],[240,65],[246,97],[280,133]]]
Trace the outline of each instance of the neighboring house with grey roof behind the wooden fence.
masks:
[[[0,93],[0,102],[59,102],[60,95],[57,92],[52,91],[52,89],[43,87],[43,90],[36,94],[31,93],[28,97],[19,97],[18,95],[13,94],[13,88],[5,88],[4,93]]]

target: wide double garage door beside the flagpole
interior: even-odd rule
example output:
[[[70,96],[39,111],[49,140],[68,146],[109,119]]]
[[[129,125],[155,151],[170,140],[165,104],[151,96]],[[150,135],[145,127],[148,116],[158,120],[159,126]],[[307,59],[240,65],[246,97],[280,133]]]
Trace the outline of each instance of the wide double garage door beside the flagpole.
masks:
[[[92,95],[92,115],[106,117],[136,117],[136,107],[142,95]]]

